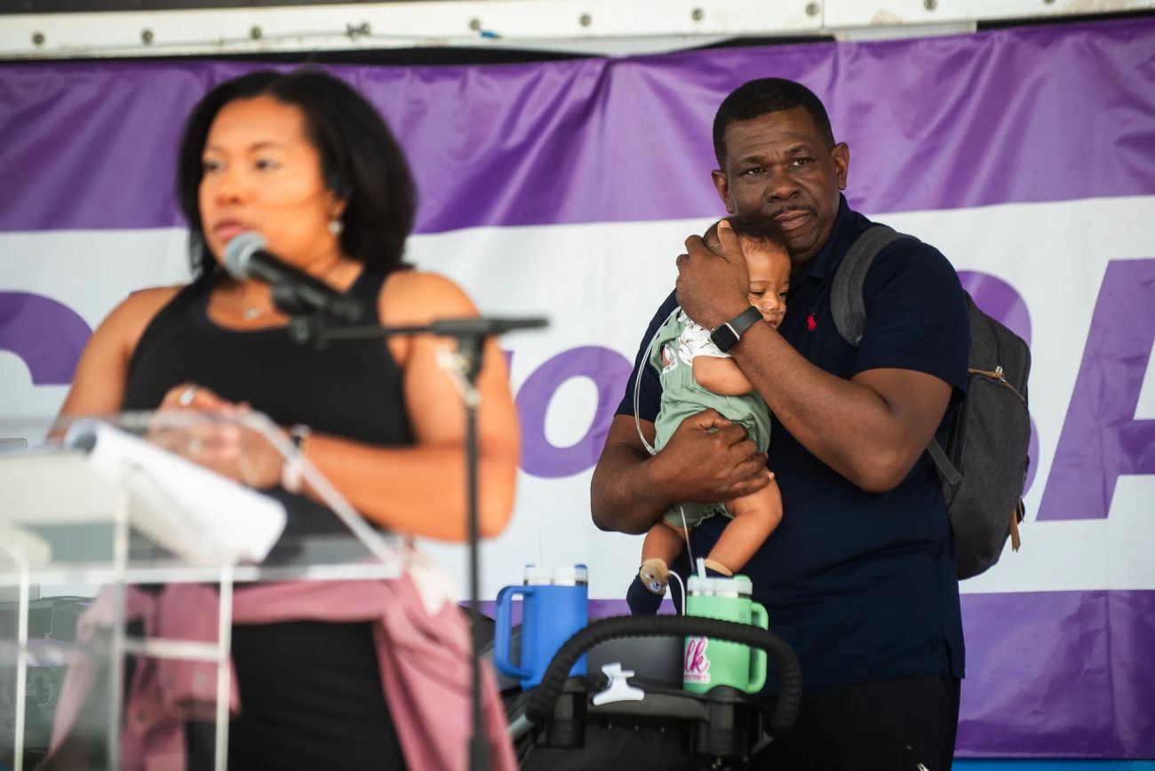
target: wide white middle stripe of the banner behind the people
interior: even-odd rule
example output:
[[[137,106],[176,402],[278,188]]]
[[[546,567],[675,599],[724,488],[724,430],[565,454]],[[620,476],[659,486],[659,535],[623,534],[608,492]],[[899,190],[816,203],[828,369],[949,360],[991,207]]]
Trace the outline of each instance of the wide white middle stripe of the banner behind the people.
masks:
[[[1146,554],[1155,542],[1155,476],[1120,476],[1113,495],[1108,491],[1105,518],[1035,519],[1100,287],[1109,263],[1155,260],[1153,210],[1155,197],[1120,197],[879,217],[939,247],[960,271],[1005,282],[1029,319],[1038,457],[1023,548],[964,582],[967,592],[1155,589],[1155,561]],[[647,321],[672,287],[683,239],[709,222],[487,227],[411,240],[410,259],[460,282],[484,313],[551,320],[544,332],[502,340],[523,413],[539,407],[539,422],[523,426],[538,436],[538,450],[523,463],[509,529],[484,548],[486,597],[520,583],[538,544],[550,563],[589,564],[591,596],[624,594],[641,541],[590,524],[589,480],[599,449],[590,424],[617,405],[616,379],[628,370],[624,362],[633,361]],[[2,291],[43,294],[95,325],[129,291],[187,276],[184,245],[179,230],[0,234]],[[1125,328],[1127,309],[1119,313]],[[65,387],[33,385],[24,361],[0,352],[0,394],[6,416],[47,416]],[[1150,360],[1133,419],[1155,419]],[[426,547],[464,586],[463,549]]]

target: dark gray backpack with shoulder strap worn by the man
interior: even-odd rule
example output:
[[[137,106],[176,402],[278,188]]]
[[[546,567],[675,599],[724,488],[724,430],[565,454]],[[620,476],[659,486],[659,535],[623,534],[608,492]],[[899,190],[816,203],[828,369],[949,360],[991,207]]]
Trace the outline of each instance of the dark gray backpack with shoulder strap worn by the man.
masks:
[[[830,310],[842,339],[858,346],[866,329],[863,283],[874,257],[892,241],[912,235],[886,225],[866,230],[847,252],[830,289]],[[917,239],[916,239],[917,240]],[[970,578],[999,561],[1007,538],[1019,549],[1022,491],[1027,482],[1030,416],[1027,375],[1030,350],[1018,335],[975,306],[970,312],[970,382],[946,447],[926,451],[942,478],[954,531],[955,572]]]

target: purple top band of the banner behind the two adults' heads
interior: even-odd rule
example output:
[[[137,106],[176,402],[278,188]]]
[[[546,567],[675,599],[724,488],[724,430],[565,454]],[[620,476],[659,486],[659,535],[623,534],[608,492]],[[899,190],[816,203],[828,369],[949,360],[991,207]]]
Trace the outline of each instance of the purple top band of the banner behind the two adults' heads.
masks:
[[[850,202],[864,211],[1149,194],[1153,67],[1155,20],[1125,20],[612,60],[333,69],[389,120],[415,166],[419,230],[441,232],[718,214],[714,111],[730,89],[763,75],[799,80],[826,100],[852,151]],[[171,189],[181,121],[213,83],[251,68],[0,67],[0,231],[180,224]]]

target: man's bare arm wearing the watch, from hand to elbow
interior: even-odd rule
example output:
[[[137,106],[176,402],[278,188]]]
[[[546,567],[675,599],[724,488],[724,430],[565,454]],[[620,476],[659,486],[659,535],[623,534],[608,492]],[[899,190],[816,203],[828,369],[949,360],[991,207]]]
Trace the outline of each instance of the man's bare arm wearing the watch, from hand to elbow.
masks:
[[[691,237],[678,259],[678,300],[713,328],[748,307],[737,238],[718,229],[724,256]],[[730,350],[774,417],[815,457],[867,492],[893,489],[934,435],[951,385],[923,372],[878,368],[843,380],[807,361],[768,324]]]

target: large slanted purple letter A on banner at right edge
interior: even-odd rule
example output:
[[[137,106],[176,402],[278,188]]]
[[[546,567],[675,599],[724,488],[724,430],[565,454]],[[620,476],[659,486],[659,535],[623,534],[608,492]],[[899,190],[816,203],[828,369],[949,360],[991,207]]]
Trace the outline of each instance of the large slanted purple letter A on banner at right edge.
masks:
[[[1122,474],[1155,474],[1155,420],[1135,407],[1155,342],[1155,260],[1112,260],[1040,506],[1040,519],[1101,519]]]

